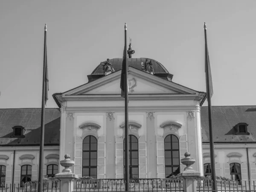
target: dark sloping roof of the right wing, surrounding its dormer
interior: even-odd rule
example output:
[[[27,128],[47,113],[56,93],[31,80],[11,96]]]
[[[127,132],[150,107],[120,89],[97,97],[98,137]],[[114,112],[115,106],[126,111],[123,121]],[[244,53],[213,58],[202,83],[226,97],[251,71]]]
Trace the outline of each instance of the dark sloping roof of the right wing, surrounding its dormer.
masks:
[[[256,142],[256,106],[212,106],[214,142]],[[248,110],[249,109],[249,110]],[[234,126],[247,123],[249,135],[236,135]],[[201,108],[202,141],[209,142],[208,107]],[[231,134],[230,134],[231,133]]]

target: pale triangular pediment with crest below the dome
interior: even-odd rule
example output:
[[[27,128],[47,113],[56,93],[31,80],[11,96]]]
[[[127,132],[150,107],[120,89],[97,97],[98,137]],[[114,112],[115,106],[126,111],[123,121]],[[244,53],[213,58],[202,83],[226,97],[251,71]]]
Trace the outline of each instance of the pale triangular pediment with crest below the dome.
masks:
[[[90,83],[76,87],[63,93],[63,96],[76,95],[120,95],[121,70],[104,76]],[[161,79],[129,67],[128,71],[129,95],[140,94],[198,94],[197,91],[189,89],[172,81]]]

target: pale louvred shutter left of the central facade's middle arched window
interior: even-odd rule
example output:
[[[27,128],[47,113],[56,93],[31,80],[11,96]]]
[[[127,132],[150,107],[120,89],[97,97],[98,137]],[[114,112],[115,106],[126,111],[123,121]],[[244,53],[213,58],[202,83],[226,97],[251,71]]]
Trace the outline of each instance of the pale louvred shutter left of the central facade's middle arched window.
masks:
[[[123,139],[116,135],[116,179],[124,177],[124,162],[123,162]]]

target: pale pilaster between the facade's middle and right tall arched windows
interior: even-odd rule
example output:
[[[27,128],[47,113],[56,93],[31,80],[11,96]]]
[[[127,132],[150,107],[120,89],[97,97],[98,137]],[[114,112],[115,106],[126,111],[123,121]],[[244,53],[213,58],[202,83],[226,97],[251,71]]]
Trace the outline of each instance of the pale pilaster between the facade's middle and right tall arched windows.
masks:
[[[154,112],[146,112],[148,178],[157,178],[157,154]]]

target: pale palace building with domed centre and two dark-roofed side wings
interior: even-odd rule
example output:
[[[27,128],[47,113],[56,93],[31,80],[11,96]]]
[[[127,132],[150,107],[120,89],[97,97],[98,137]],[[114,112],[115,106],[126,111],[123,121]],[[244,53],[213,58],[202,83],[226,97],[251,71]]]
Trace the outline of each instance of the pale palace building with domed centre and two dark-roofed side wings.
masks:
[[[206,93],[175,83],[158,61],[128,58],[131,178],[169,178],[182,172],[189,151],[193,169],[210,175]],[[44,177],[70,154],[79,177],[124,177],[122,58],[99,64],[88,83],[55,93],[58,108],[45,109]],[[256,106],[213,106],[216,175],[256,180]],[[2,183],[37,180],[41,109],[0,109]]]

